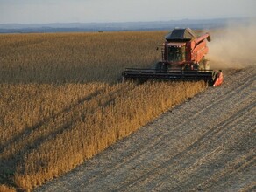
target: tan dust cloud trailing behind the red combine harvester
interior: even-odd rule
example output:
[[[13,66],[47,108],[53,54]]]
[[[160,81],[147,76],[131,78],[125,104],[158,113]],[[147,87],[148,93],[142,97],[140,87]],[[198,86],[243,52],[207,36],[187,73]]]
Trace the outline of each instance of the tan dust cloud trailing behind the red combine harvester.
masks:
[[[208,44],[211,68],[244,68],[256,65],[256,22],[229,24],[224,29],[210,32]]]

